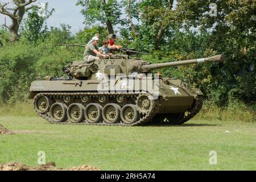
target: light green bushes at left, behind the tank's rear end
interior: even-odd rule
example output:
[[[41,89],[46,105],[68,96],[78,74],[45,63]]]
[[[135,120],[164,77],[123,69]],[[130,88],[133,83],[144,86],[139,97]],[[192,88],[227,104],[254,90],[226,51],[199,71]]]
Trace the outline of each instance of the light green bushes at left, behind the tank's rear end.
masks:
[[[53,28],[37,44],[21,39],[0,48],[0,102],[27,100],[32,81],[51,76],[63,76],[62,68],[71,61],[81,60],[83,52],[61,44],[71,40],[66,26]]]

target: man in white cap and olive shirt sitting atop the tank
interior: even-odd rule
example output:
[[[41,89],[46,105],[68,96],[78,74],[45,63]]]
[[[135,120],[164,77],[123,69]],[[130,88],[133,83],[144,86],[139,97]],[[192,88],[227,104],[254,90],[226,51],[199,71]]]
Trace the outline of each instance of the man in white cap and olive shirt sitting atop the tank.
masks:
[[[107,55],[103,55],[99,52],[99,49],[97,47],[98,44],[98,38],[97,36],[94,36],[93,39],[91,39],[91,43],[85,47],[85,53],[83,53],[83,58],[85,59],[86,63],[91,63],[95,60],[99,60],[99,57],[97,55],[106,57]]]

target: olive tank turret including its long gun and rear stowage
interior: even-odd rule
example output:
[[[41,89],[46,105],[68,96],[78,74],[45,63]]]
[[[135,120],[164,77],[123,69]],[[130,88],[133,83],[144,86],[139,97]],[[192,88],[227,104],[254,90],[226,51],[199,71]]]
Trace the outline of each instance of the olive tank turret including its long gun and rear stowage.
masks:
[[[225,57],[223,55],[216,55],[202,59],[150,64],[139,59],[129,59],[126,55],[112,55],[107,57],[107,59],[95,61],[94,63],[90,64],[86,64],[84,61],[74,61],[72,64],[67,65],[67,67],[64,67],[63,72],[67,73],[69,76],[73,76],[74,78],[89,77],[93,73],[96,73],[98,69],[102,71],[101,73],[106,73],[107,75],[110,75],[110,69],[115,69],[115,75],[118,73],[125,73],[128,75],[129,73],[133,72],[149,73],[154,69],[168,68],[178,65],[212,62],[222,63],[224,59]],[[105,64],[101,64],[102,62]]]

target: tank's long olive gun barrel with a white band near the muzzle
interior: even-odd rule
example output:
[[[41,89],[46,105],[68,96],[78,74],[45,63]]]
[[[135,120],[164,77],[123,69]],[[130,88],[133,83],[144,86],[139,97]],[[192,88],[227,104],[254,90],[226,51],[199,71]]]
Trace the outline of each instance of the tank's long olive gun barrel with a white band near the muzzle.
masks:
[[[212,63],[212,62],[222,63],[224,60],[225,60],[224,55],[216,55],[216,56],[211,56],[211,57],[202,58],[202,59],[175,61],[170,63],[148,64],[148,65],[143,65],[142,68],[143,68],[143,72],[150,72],[158,68],[167,68],[167,67],[174,67],[177,65],[197,64],[197,63]]]

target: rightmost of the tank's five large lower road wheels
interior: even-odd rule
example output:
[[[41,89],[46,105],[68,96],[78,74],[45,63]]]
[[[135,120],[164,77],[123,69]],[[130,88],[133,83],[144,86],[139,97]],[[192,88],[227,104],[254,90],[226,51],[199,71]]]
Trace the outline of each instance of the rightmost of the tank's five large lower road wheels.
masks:
[[[139,113],[133,104],[123,106],[121,110],[121,119],[124,123],[130,125],[138,120]]]

